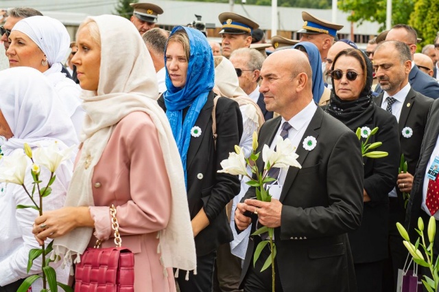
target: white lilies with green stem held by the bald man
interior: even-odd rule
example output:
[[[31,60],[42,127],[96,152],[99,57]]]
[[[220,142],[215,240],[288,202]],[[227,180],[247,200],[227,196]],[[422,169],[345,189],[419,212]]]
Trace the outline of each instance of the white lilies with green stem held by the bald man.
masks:
[[[287,169],[290,166],[302,168],[297,161],[298,155],[296,154],[296,149],[292,146],[289,139],[282,139],[281,136],[277,136],[276,139],[276,150],[270,149],[270,146],[264,145],[262,148],[262,160],[264,162],[263,170],[259,171],[256,161],[259,159],[260,152],[256,153],[258,148],[257,132],[253,133],[253,152],[250,157],[244,157],[244,151],[241,147],[235,146],[235,152],[229,154],[228,159],[224,159],[221,162],[222,170],[218,172],[228,173],[230,175],[243,175],[248,177],[250,181],[246,182],[249,186],[255,188],[256,197],[259,201],[270,202],[272,201],[272,196],[270,195],[270,190],[266,190],[266,184],[276,179],[270,177],[268,172],[271,168],[283,168]],[[315,139],[314,139],[315,141]],[[314,142],[314,147],[316,142]],[[248,175],[247,168],[252,171],[252,176]],[[254,212],[257,215],[257,211]],[[254,251],[254,262],[257,261],[261,255],[261,251],[265,245],[270,247],[270,257],[263,265],[261,271],[272,267],[272,291],[276,291],[274,287],[274,258],[276,256],[276,245],[274,245],[273,236],[274,228],[261,227],[257,229],[252,235],[256,236],[259,234],[268,234],[268,238],[262,240]]]

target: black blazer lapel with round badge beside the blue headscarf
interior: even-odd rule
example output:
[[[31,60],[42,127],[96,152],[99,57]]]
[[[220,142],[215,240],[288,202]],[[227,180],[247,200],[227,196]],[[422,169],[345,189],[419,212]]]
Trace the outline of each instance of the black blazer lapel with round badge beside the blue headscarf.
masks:
[[[198,152],[198,149],[200,148],[200,145],[206,139],[207,143],[209,137],[209,133],[211,133],[211,130],[208,128],[211,123],[209,123],[209,119],[212,116],[213,111],[213,93],[209,93],[209,96],[207,98],[206,104],[204,104],[203,108],[200,111],[200,114],[198,115],[197,120],[195,121],[194,126],[199,126],[201,128],[201,135],[200,137],[193,137],[191,136],[191,142],[189,143],[189,149],[187,150],[187,162],[186,162],[186,170],[189,170],[191,167],[193,158]]]

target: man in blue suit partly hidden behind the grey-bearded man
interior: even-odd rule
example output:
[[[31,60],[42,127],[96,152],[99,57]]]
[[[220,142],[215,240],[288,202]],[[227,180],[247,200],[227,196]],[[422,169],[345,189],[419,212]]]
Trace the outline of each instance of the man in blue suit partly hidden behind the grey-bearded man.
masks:
[[[385,41],[400,41],[405,43],[410,48],[410,53],[412,55],[411,60],[414,58],[414,53],[416,53],[416,43],[417,43],[418,34],[416,34],[416,30],[413,27],[405,24],[397,24],[392,27],[385,36]],[[428,76],[423,71],[412,63],[412,70],[409,74],[409,82],[412,85],[415,91],[423,94],[424,96],[428,96],[429,98],[439,98],[439,84],[431,76]],[[383,92],[380,86],[377,86],[375,89],[377,93]]]

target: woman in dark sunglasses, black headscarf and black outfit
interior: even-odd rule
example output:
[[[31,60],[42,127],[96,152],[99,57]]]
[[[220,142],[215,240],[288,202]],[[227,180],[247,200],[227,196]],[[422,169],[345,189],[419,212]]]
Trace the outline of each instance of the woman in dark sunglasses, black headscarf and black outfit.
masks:
[[[399,131],[396,118],[375,105],[371,96],[372,63],[358,49],[335,56],[331,72],[333,93],[327,113],[352,131],[361,128],[361,141],[375,127],[369,143],[382,142],[374,150],[387,157],[364,157],[364,212],[361,227],[349,234],[355,265],[357,291],[381,291],[383,260],[388,257],[389,193],[396,185],[399,166]],[[346,161],[346,163],[349,163]]]

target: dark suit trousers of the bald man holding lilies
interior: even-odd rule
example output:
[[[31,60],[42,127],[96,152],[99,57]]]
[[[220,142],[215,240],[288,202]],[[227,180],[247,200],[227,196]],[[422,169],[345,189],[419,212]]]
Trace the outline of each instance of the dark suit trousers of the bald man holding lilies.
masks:
[[[259,240],[255,241],[256,242],[254,244],[257,246]],[[272,267],[270,266],[268,269],[265,269],[265,271],[261,272],[263,264],[269,256],[270,245],[265,245],[255,267],[253,267],[253,258],[250,260],[250,266],[248,267],[246,278],[244,278],[244,292],[272,292]],[[274,279],[276,292],[283,292],[276,259],[274,260],[274,271],[276,273],[276,278]]]

